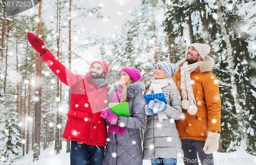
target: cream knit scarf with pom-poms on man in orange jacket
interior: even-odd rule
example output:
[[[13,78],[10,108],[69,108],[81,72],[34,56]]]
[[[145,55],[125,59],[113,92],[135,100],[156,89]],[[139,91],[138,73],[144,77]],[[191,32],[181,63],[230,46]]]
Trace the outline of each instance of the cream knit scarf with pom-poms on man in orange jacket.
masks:
[[[187,109],[190,115],[195,115],[197,113],[196,100],[193,93],[193,88],[191,85],[190,73],[195,71],[200,67],[202,61],[196,62],[194,64],[188,65],[185,62],[180,68],[181,72],[181,96],[182,96],[182,107]]]

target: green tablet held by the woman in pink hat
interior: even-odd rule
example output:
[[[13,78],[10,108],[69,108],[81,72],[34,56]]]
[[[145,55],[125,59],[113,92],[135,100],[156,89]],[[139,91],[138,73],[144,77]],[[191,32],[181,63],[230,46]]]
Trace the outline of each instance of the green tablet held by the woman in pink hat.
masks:
[[[109,103],[109,108],[117,116],[130,116],[129,105],[127,102]]]

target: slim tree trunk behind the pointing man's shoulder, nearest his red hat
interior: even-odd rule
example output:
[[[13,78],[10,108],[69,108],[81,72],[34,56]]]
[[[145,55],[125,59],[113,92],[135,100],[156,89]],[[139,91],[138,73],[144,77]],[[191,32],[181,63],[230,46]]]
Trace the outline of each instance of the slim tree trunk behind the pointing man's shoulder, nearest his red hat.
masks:
[[[71,71],[71,0],[69,0],[69,70]],[[69,89],[69,105],[71,98],[71,90]],[[67,140],[67,150],[70,152],[70,140]]]

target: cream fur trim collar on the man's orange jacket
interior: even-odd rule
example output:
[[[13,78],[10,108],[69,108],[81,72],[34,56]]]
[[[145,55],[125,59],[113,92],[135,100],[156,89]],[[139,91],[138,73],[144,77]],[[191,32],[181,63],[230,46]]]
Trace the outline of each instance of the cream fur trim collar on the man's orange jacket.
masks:
[[[182,66],[182,64],[184,64],[186,62],[186,59],[182,59],[181,61],[179,61],[176,66],[177,69],[179,70],[180,67]],[[200,72],[204,73],[204,72],[208,72],[211,71],[212,69],[214,69],[215,66],[215,61],[214,59],[212,59],[209,56],[206,56],[204,58],[204,60],[202,61],[202,64],[200,66]]]

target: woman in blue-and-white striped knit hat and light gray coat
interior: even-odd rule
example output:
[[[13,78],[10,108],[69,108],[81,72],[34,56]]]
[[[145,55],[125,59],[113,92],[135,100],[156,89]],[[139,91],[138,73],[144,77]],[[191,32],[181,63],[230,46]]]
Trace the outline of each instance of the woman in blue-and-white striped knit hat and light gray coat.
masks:
[[[173,81],[174,64],[155,65],[153,80],[147,82],[144,95],[164,93],[167,104],[157,98],[145,105],[146,128],[143,140],[143,159],[151,164],[177,164],[183,157],[181,140],[175,120],[182,116],[181,96]]]

